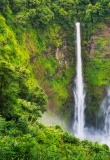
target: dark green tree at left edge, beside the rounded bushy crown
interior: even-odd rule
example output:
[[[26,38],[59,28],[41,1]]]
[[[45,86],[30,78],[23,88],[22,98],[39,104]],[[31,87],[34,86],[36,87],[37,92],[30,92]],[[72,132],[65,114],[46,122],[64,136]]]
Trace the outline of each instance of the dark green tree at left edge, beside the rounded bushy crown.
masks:
[[[0,62],[0,111],[9,118],[12,106],[16,104],[18,84],[15,67],[5,61]]]

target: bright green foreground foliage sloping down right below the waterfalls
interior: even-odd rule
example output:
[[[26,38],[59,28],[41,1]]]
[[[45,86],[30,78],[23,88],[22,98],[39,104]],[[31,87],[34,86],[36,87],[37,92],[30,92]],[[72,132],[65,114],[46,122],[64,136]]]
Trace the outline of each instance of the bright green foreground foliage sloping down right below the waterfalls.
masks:
[[[0,118],[0,160],[109,160],[107,145],[80,141],[61,128]],[[5,135],[5,136],[4,136]]]

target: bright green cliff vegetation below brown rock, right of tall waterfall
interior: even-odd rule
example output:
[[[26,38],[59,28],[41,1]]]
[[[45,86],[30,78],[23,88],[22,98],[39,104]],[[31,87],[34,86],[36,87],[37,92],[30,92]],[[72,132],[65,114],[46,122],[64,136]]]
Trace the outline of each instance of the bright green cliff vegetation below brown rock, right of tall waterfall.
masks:
[[[88,82],[92,85],[108,85],[110,83],[110,79],[108,77],[109,71],[109,60],[91,60],[91,62],[87,63],[87,75],[89,78]]]

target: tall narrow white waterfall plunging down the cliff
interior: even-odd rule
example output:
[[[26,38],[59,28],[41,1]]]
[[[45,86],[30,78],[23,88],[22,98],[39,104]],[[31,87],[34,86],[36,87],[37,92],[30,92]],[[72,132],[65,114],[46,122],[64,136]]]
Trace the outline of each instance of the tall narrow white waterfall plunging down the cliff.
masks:
[[[77,66],[76,66],[76,78],[75,78],[75,88],[74,98],[75,98],[75,115],[73,130],[76,137],[84,138],[84,83],[82,74],[82,60],[81,60],[81,38],[80,38],[80,23],[76,23],[76,51],[77,51]]]

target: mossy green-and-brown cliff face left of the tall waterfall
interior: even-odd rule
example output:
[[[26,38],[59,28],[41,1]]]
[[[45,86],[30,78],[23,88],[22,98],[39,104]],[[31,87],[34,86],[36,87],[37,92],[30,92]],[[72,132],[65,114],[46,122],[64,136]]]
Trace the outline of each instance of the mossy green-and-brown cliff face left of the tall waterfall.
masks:
[[[49,29],[41,35],[36,32],[34,38],[35,31],[27,31],[24,43],[36,80],[48,96],[47,110],[67,118],[73,108],[75,49],[68,44],[66,33],[54,27],[50,29],[49,37]],[[39,36],[41,42],[38,41]]]

